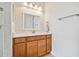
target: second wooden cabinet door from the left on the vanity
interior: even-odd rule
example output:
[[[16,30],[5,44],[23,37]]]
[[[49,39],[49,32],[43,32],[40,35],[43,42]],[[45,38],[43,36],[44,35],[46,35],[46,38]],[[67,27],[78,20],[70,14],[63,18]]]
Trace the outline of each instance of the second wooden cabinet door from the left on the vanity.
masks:
[[[34,57],[37,56],[37,41],[27,42],[27,56]]]

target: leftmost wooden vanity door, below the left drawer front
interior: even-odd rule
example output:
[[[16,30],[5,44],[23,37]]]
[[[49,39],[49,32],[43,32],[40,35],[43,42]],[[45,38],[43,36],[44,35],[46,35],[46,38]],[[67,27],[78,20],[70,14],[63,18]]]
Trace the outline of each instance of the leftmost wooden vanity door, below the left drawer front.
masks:
[[[14,51],[13,51],[14,57],[24,57],[26,56],[25,51],[25,43],[18,43],[14,45]]]

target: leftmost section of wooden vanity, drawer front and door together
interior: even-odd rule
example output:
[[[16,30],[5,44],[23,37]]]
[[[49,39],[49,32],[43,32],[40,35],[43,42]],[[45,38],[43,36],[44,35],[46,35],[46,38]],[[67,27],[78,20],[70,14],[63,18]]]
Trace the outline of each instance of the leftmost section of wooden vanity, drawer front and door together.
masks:
[[[25,38],[16,38],[13,40],[13,56],[25,57],[26,56],[26,43]]]

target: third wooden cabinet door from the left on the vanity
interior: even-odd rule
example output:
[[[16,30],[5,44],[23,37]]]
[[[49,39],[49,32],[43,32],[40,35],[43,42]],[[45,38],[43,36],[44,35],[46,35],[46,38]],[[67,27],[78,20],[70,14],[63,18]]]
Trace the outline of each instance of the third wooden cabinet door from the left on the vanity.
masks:
[[[38,56],[46,54],[46,39],[38,41]]]

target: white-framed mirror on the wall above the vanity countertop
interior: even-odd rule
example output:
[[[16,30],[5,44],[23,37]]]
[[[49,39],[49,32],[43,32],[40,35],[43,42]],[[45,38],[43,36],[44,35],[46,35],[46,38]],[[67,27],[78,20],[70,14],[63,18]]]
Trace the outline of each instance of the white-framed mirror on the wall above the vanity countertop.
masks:
[[[40,30],[40,16],[23,13],[24,30]]]

